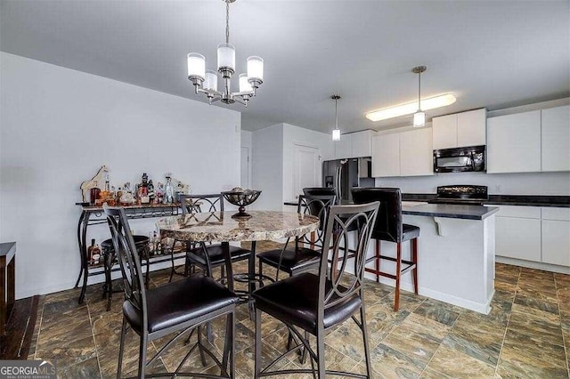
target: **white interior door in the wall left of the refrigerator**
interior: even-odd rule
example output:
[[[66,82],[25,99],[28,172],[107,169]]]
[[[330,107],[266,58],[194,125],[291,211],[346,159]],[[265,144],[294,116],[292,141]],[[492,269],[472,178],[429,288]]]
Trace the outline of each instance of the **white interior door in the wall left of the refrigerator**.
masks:
[[[321,187],[321,150],[314,146],[293,144],[293,195],[305,187]]]

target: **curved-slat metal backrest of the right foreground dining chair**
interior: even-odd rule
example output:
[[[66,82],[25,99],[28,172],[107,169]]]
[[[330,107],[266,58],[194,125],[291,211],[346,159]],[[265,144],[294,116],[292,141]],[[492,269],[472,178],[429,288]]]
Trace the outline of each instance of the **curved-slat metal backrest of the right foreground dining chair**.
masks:
[[[378,209],[378,201],[358,206],[330,207],[324,238],[324,246],[327,247],[323,247],[319,269],[318,320],[320,322],[327,308],[345,302],[355,295],[362,298],[366,253]],[[349,253],[348,243],[354,240],[354,257],[345,259],[345,255]],[[348,264],[352,265],[354,275],[346,272]],[[326,286],[327,279],[330,281],[330,286]]]

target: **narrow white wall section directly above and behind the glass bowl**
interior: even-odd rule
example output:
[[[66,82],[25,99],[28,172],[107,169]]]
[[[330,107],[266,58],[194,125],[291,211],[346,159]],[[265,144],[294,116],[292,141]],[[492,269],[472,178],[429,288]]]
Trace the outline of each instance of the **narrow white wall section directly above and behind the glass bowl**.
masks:
[[[252,209],[281,211],[283,203],[283,126],[273,125],[252,133],[252,188],[261,195]]]

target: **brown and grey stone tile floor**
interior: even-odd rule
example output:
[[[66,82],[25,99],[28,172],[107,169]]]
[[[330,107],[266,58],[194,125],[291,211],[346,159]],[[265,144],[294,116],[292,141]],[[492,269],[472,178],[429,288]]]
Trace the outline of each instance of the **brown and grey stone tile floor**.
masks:
[[[266,246],[271,244],[258,244],[257,249]],[[245,263],[235,270],[247,270]],[[152,272],[151,287],[167,283],[168,276],[169,270]],[[395,312],[394,288],[368,281],[364,291],[373,377],[570,378],[570,276],[497,264],[495,289],[489,315],[407,292],[401,294],[401,308]],[[28,359],[57,359],[60,377],[114,377],[121,294],[115,294],[110,311],[105,311],[101,285],[88,287],[82,305],[77,304],[78,294],[73,289],[42,297]],[[254,325],[245,305],[238,307],[237,320],[237,377],[251,378]],[[224,332],[217,331],[224,330],[223,320],[213,329],[212,348],[219,352]],[[284,351],[286,330],[264,315],[266,361]],[[352,320],[331,330],[325,343],[328,368],[364,370],[362,337]],[[159,342],[152,343],[149,355],[157,348]],[[186,349],[183,343],[175,344],[150,371],[174,370]],[[137,354],[138,339],[130,332],[123,375],[135,375]],[[213,361],[208,359],[203,367],[197,353],[186,366],[216,374]],[[291,357],[281,366],[301,364]]]

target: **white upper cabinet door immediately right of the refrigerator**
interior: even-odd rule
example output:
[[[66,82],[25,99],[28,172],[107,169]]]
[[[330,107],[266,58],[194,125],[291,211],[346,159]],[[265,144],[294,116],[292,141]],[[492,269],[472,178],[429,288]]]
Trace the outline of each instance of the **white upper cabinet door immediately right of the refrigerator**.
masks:
[[[400,133],[372,138],[372,176],[400,176]]]

